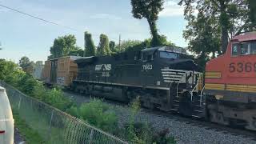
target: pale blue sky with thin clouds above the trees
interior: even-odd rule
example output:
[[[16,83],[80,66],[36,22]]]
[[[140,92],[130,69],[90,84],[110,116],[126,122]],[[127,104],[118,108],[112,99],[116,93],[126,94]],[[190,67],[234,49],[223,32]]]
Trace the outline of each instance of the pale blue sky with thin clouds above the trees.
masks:
[[[177,46],[187,46],[182,38],[186,28],[183,8],[178,0],[166,0],[159,14],[157,26]],[[27,14],[44,18],[59,26],[30,18],[0,6],[0,58],[18,62],[22,56],[32,61],[45,61],[50,55],[54,38],[74,34],[77,45],[84,46],[83,34],[89,31],[98,46],[100,34],[118,43],[134,39],[150,38],[146,19],[133,18],[130,0],[0,0],[0,5],[9,6]],[[70,30],[69,28],[72,28]]]

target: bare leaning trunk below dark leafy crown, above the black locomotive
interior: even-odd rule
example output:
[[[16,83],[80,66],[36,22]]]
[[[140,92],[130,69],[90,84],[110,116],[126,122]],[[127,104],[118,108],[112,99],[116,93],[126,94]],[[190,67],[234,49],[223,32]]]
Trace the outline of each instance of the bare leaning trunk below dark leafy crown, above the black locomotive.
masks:
[[[150,25],[150,31],[152,34],[152,41],[151,41],[151,46],[160,46],[161,42],[158,38],[158,30],[155,21],[151,21],[150,19],[147,19],[147,22]]]

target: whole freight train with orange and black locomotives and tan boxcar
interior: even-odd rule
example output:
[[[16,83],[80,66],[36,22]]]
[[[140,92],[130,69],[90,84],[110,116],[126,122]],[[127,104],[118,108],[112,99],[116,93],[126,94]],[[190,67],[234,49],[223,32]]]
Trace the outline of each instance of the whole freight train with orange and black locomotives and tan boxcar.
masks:
[[[82,94],[119,102],[139,97],[142,106],[151,110],[256,130],[254,54],[256,33],[250,32],[232,38],[225,54],[206,62],[205,71],[186,49],[158,46],[111,56],[73,58],[62,65],[69,67],[71,62],[76,73],[70,76],[66,72],[61,78],[56,77],[63,72],[58,72],[56,63],[62,58],[49,60],[44,73],[49,73],[51,84],[61,79],[66,88]]]

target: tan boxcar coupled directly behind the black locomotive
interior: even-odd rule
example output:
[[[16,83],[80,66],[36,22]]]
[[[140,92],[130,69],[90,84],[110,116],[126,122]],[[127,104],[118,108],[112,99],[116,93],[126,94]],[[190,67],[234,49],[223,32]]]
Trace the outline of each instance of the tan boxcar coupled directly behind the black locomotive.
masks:
[[[78,58],[82,57],[66,56],[47,60],[42,70],[42,82],[46,85],[70,86],[77,76],[78,65],[74,60]]]

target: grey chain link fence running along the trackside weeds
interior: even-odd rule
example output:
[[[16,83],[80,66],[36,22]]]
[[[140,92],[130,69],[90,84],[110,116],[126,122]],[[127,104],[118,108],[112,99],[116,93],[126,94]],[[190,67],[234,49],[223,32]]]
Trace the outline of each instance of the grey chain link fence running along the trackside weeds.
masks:
[[[22,94],[13,86],[0,81],[13,110],[44,138],[54,144],[128,144],[111,134],[98,130],[69,114]]]

